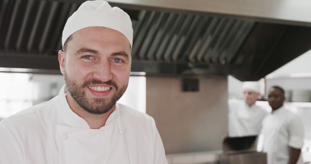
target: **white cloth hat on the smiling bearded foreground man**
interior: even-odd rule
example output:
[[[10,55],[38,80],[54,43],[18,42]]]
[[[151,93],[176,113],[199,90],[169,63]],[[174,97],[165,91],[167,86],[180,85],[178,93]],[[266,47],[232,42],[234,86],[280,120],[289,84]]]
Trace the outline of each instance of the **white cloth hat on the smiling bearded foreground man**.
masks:
[[[63,30],[62,45],[70,35],[86,27],[108,27],[122,33],[133,43],[133,28],[130,16],[106,1],[86,1],[70,16]]]

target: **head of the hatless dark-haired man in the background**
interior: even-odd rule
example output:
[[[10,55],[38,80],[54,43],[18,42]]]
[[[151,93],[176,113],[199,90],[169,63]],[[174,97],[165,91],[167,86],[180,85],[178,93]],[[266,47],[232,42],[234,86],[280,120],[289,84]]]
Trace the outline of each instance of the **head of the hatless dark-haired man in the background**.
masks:
[[[272,110],[278,109],[283,106],[285,100],[284,93],[280,89],[271,88],[267,100]]]

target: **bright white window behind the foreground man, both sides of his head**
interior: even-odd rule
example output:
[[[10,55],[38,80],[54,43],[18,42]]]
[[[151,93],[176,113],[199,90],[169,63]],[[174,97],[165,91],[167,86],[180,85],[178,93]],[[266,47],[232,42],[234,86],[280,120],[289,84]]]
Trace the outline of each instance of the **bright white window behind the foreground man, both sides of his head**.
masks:
[[[0,72],[0,79],[0,120],[49,101],[64,84],[63,75]],[[146,77],[130,76],[128,89],[118,103],[146,113]]]

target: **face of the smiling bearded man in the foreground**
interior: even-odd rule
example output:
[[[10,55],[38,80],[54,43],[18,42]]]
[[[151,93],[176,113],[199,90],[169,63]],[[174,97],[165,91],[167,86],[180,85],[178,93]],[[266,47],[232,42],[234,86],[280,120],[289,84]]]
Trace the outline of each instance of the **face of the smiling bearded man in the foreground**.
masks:
[[[58,57],[70,96],[89,113],[108,112],[128,86],[130,54],[127,38],[116,30],[87,27],[74,33]]]

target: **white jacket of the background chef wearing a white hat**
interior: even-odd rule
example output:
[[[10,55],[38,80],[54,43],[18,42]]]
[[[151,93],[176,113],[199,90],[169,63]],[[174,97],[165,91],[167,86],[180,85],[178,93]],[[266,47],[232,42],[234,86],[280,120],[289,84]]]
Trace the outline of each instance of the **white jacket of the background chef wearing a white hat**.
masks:
[[[229,99],[229,136],[242,137],[260,134],[262,120],[267,112],[253,104],[251,107],[244,100]]]

